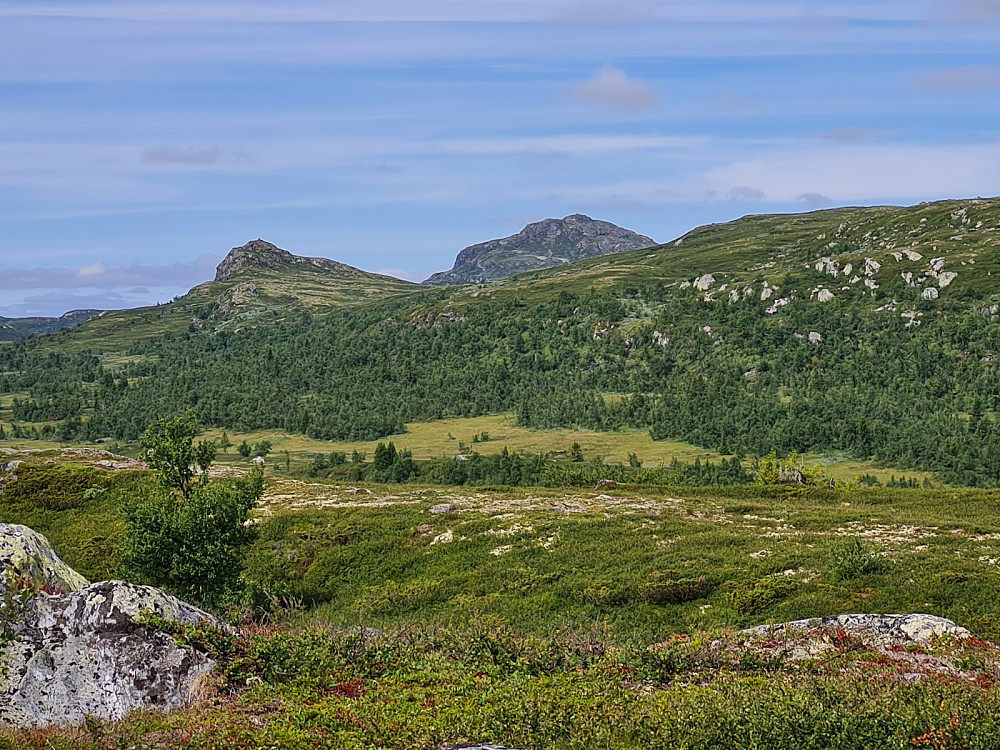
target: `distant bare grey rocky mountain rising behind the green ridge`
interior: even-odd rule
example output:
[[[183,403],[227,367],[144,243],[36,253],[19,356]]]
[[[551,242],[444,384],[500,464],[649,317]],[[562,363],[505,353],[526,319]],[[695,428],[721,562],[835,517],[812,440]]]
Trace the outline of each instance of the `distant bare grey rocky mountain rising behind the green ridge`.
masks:
[[[524,271],[551,268],[609,253],[652,247],[656,242],[607,221],[572,214],[528,224],[510,237],[471,245],[458,254],[450,271],[425,284],[469,284],[502,279]]]

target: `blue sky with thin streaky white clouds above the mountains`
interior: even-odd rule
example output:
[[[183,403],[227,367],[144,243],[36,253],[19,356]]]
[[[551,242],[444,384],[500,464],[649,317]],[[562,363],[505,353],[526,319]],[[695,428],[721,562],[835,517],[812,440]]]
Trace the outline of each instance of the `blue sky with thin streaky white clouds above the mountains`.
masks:
[[[1000,0],[0,0],[0,316],[261,237],[422,280],[585,213],[1000,194]]]

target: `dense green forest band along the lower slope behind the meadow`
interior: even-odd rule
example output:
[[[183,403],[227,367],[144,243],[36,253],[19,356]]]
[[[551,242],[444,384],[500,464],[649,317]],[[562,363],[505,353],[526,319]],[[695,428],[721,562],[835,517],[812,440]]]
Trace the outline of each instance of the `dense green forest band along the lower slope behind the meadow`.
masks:
[[[442,294],[416,310],[140,341],[136,363],[113,371],[21,342],[0,348],[0,389],[17,395],[16,419],[61,419],[83,440],[134,440],[188,409],[206,425],[324,440],[512,411],[528,427],[644,428],[726,454],[838,451],[1000,486],[1000,325],[980,299],[906,304],[920,325],[871,301],[768,315],[756,298],[658,286],[531,304]]]

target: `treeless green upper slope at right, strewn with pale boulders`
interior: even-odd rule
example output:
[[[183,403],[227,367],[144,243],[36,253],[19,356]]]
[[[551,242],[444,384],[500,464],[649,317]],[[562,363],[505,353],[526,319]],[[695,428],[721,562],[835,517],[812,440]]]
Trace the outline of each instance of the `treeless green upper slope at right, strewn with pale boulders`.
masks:
[[[733,302],[990,296],[1000,291],[998,248],[1000,199],[838,208],[699,227],[655,248],[523,273],[485,293],[544,299],[657,283]]]

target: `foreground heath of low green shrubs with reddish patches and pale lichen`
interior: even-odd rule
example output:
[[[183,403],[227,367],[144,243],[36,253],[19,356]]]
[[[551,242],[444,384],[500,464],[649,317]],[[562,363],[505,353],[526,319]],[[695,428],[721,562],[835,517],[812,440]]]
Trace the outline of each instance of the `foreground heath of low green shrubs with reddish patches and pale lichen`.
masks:
[[[0,521],[118,575],[121,507],[150,479],[23,458]],[[994,643],[733,629],[919,611],[1000,637],[996,500],[272,479],[247,575],[275,608],[234,637],[178,633],[222,662],[189,708],[0,747],[995,747]]]

